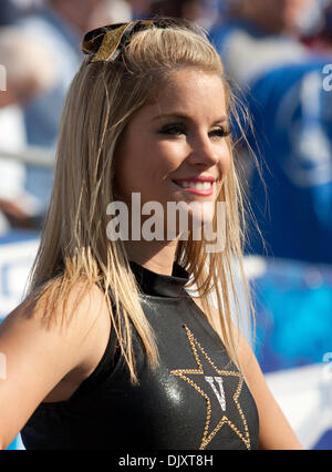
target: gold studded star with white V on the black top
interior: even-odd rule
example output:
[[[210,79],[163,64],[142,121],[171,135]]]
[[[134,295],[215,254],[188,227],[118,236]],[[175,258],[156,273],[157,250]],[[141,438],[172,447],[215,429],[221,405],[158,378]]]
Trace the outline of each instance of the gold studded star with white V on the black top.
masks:
[[[186,329],[189,346],[197,363],[197,369],[175,369],[175,370],[169,370],[169,373],[172,373],[173,376],[177,376],[184,381],[186,381],[187,383],[189,383],[189,386],[193,387],[206,400],[206,422],[205,422],[205,428],[204,428],[199,449],[205,449],[224,424],[228,424],[228,427],[241,439],[246,448],[250,449],[250,435],[249,435],[248,424],[238,400],[241,393],[242,384],[243,384],[242,373],[239,371],[218,369],[212,362],[212,360],[209,358],[209,356],[206,353],[205,349],[197,341],[197,339],[195,338],[190,329],[187,327],[187,325],[183,325],[183,326]],[[218,374],[217,377],[206,376],[206,372],[204,371],[201,358],[204,358],[212,367],[212,369]],[[210,424],[211,412],[212,412],[211,399],[210,399],[211,389],[207,388],[204,390],[199,384],[197,384],[196,376],[205,377],[205,380],[207,381],[207,386],[210,384],[210,387],[212,388],[219,401],[220,409],[221,409],[221,418],[215,428],[212,428]],[[237,387],[231,398],[239,412],[240,422],[242,424],[241,431],[236,424],[234,424],[232,421],[229,420],[229,418],[226,414],[224,414],[224,411],[226,411],[226,399],[224,393],[222,381],[224,380],[227,381],[227,378],[229,377],[238,379]],[[215,386],[215,380],[217,381],[217,383],[219,383],[219,392],[218,392],[218,388]]]

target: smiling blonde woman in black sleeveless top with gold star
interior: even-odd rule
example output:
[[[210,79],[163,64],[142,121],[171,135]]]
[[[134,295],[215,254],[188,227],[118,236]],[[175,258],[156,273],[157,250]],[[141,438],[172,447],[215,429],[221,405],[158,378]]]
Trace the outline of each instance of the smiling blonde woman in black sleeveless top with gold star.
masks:
[[[234,321],[242,203],[217,52],[169,19],[94,30],[83,51],[30,291],[0,327],[2,448],[22,431],[27,449],[299,449]],[[194,234],[219,208],[211,250]]]

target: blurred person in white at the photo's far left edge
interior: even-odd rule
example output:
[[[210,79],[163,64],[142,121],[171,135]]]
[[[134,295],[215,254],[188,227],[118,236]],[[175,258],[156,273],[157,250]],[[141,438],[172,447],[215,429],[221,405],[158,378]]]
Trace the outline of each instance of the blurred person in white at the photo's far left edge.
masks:
[[[27,147],[21,106],[52,88],[56,71],[42,43],[13,27],[0,29],[0,152],[19,153]],[[0,233],[9,225],[31,227],[40,208],[24,189],[25,166],[1,158],[0,182]]]

